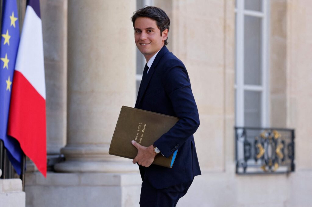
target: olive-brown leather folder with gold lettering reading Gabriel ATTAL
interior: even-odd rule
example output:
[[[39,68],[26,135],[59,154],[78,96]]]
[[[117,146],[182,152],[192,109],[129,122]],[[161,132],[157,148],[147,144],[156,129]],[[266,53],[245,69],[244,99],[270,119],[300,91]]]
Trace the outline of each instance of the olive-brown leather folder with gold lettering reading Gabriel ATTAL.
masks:
[[[138,150],[132,145],[132,140],[148,147],[169,131],[178,120],[174,116],[122,106],[110,142],[109,154],[134,159]],[[172,168],[177,152],[178,150],[168,158],[159,153],[152,164]]]

